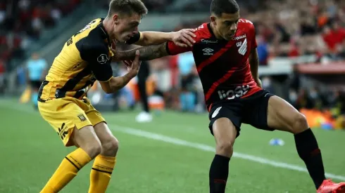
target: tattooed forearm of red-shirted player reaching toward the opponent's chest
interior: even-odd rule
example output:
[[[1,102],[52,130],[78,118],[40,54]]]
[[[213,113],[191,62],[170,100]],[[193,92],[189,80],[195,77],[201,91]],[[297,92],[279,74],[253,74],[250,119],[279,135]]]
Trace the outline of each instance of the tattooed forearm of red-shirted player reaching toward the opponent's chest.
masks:
[[[139,50],[139,60],[153,60],[156,58],[162,58],[169,55],[166,50],[166,42],[164,44],[144,46],[142,48],[136,48],[130,51],[122,51],[116,53],[116,60],[133,60],[135,57],[135,51]]]

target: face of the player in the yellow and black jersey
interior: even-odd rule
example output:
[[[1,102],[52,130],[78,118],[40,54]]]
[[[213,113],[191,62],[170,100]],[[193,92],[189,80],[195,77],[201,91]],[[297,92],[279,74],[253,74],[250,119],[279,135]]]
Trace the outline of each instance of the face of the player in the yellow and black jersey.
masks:
[[[125,42],[138,33],[138,26],[142,17],[139,14],[123,15],[115,20],[114,35],[120,42]]]

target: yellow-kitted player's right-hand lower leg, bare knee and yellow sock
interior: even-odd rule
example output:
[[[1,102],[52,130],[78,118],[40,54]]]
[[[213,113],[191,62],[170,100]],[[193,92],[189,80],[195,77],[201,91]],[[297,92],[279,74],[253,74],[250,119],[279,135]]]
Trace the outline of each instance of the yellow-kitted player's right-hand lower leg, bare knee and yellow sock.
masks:
[[[94,126],[94,131],[101,141],[102,152],[96,159],[90,173],[89,193],[106,192],[111,173],[115,166],[115,156],[118,152],[118,140],[113,136],[106,123],[101,122]]]

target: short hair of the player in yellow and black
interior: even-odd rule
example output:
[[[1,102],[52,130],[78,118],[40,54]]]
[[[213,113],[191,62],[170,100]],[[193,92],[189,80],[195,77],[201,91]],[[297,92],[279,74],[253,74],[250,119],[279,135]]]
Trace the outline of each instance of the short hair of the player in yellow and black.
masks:
[[[147,14],[147,8],[141,0],[111,0],[108,16],[114,13],[119,13],[120,15],[137,13],[144,16]]]

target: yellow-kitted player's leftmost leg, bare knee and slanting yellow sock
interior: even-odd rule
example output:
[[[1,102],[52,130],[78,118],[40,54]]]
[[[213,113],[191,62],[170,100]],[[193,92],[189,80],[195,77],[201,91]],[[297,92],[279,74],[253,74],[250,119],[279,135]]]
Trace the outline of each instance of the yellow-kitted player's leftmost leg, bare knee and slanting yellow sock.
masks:
[[[79,148],[63,159],[54,175],[51,176],[49,182],[42,189],[42,193],[59,192],[68,182],[73,180],[83,166],[101,152],[101,142],[92,126],[85,126],[80,129],[74,128],[70,140]]]

